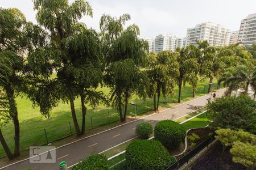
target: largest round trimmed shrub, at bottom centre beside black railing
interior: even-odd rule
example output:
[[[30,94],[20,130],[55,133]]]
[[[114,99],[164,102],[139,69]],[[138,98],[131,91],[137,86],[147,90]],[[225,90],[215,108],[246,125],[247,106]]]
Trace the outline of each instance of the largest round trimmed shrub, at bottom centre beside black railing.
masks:
[[[166,169],[175,162],[167,149],[155,140],[136,140],[125,152],[127,169]]]

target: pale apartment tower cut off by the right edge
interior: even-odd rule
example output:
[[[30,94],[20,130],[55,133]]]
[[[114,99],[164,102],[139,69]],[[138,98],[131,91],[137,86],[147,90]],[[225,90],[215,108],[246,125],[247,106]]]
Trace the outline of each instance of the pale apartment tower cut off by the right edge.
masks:
[[[256,42],[256,13],[241,20],[238,41],[241,41],[243,46],[251,46]]]

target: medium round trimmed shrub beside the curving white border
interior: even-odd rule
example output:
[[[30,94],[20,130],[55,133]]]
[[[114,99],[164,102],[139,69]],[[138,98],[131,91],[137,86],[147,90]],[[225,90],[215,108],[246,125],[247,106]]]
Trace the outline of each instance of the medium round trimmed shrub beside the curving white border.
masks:
[[[166,148],[174,148],[184,142],[185,129],[172,120],[163,120],[155,125],[155,139]]]

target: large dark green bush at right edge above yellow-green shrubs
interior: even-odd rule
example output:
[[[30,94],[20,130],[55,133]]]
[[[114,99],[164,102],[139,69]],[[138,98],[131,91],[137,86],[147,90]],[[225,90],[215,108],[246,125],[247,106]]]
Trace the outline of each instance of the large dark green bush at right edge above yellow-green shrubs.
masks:
[[[211,126],[250,131],[255,125],[255,108],[255,101],[246,95],[217,98],[209,104]]]

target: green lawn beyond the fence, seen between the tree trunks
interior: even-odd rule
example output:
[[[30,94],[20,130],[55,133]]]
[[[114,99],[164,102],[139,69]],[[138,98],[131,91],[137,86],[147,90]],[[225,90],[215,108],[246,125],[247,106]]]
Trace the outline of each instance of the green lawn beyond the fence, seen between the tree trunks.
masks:
[[[207,91],[208,80],[199,83],[196,91],[197,96],[204,95]],[[214,80],[216,87],[216,80]],[[102,87],[98,88],[99,91],[103,91],[105,94],[109,94],[109,88]],[[175,88],[176,94],[178,94],[177,87]],[[181,92],[182,101],[188,101],[193,99],[192,87],[187,84],[183,87]],[[137,103],[137,114],[143,114],[153,108],[152,99],[147,99],[143,101],[139,99],[137,95],[134,95],[130,101]],[[162,108],[172,107],[174,101],[177,101],[177,95],[168,97],[164,100],[160,97],[159,106]],[[69,104],[60,103],[58,107],[54,108],[51,113],[51,117],[45,118],[40,114],[39,108],[32,108],[31,101],[27,100],[26,97],[16,97],[16,103],[18,105],[19,122],[20,122],[20,149],[26,150],[30,146],[44,145],[46,143],[46,137],[44,134],[44,129],[47,131],[48,141],[55,141],[61,137],[70,135],[69,122],[71,124],[71,131],[75,133],[75,128],[73,127],[72,117],[70,113]],[[79,124],[81,126],[81,104],[80,99],[75,100],[76,114]],[[114,108],[106,108],[105,105],[100,105],[96,109],[92,109],[87,106],[86,114],[86,130],[91,128],[96,128],[101,125],[108,124],[109,122],[115,122],[119,120],[118,112]],[[128,106],[128,116],[133,115],[134,107],[132,105]],[[109,115],[109,118],[108,118]],[[92,122],[92,124],[91,124]],[[14,149],[14,126],[12,122],[2,126],[2,133],[6,139],[7,144]],[[5,156],[2,145],[0,145],[0,157]]]

